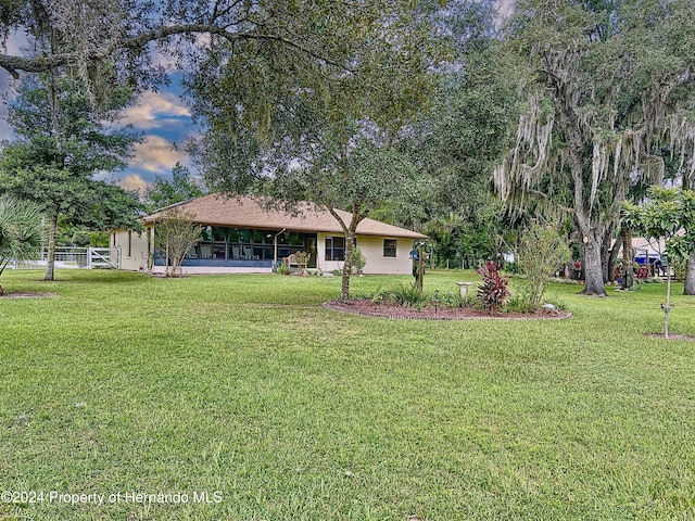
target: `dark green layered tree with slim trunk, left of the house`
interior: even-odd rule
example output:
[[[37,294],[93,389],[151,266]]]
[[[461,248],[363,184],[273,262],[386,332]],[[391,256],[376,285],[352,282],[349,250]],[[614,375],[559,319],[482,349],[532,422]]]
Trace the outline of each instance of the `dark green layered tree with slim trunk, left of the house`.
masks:
[[[137,227],[135,193],[94,179],[125,165],[134,137],[110,125],[128,101],[114,91],[105,112],[96,112],[79,79],[62,75],[27,79],[9,122],[15,141],[0,156],[0,192],[41,205],[49,220],[49,263],[54,277],[59,217],[104,230]]]

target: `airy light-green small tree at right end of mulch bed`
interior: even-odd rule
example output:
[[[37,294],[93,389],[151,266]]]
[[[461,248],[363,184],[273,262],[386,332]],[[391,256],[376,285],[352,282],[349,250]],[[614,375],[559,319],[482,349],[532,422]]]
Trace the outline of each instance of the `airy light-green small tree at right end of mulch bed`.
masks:
[[[519,265],[529,280],[533,306],[541,304],[547,281],[570,257],[567,243],[555,228],[533,223],[523,231]]]

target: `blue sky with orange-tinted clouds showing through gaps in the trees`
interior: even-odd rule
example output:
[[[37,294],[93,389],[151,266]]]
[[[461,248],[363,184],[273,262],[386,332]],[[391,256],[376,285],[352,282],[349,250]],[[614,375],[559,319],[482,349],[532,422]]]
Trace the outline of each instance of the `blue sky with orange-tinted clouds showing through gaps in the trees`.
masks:
[[[513,3],[513,0],[495,1],[502,18],[508,16]],[[16,54],[24,41],[22,37],[10,37],[4,51]],[[170,79],[170,85],[162,87],[159,92],[143,92],[136,104],[124,112],[121,123],[131,125],[132,130],[143,137],[143,141],[135,145],[128,166],[110,176],[124,188],[143,190],[155,176],[170,179],[172,168],[177,162],[195,173],[184,144],[199,129],[181,100],[180,76],[172,69]],[[0,69],[0,93],[12,96],[12,80],[3,69]],[[7,104],[0,103],[0,140],[12,137],[7,114]]]

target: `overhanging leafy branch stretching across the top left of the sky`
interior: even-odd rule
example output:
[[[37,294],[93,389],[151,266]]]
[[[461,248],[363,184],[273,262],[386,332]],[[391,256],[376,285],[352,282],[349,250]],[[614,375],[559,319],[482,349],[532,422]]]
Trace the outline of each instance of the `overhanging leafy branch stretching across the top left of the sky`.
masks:
[[[118,79],[131,86],[163,78],[150,51],[179,65],[206,54],[237,60],[273,55],[291,66],[295,59],[339,63],[359,27],[392,4],[331,0],[12,0],[0,10],[0,36],[25,33],[35,54],[0,54],[0,67],[40,73],[76,67],[99,82],[99,64],[118,64]],[[249,63],[251,68],[253,64]],[[224,63],[220,65],[226,66]],[[240,71],[230,71],[239,73]],[[253,71],[248,71],[252,77]],[[288,69],[288,72],[290,72]],[[108,82],[104,84],[106,87]]]

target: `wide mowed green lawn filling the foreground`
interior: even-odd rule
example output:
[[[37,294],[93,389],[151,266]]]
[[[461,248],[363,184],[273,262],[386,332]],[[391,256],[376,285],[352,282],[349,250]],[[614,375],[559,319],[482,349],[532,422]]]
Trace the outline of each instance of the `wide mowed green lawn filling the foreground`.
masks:
[[[569,320],[413,321],[319,307],[339,278],[41,276],[2,277],[55,296],[0,300],[0,492],[45,498],[0,520],[695,519],[695,342],[645,335],[666,284],[552,285]]]

